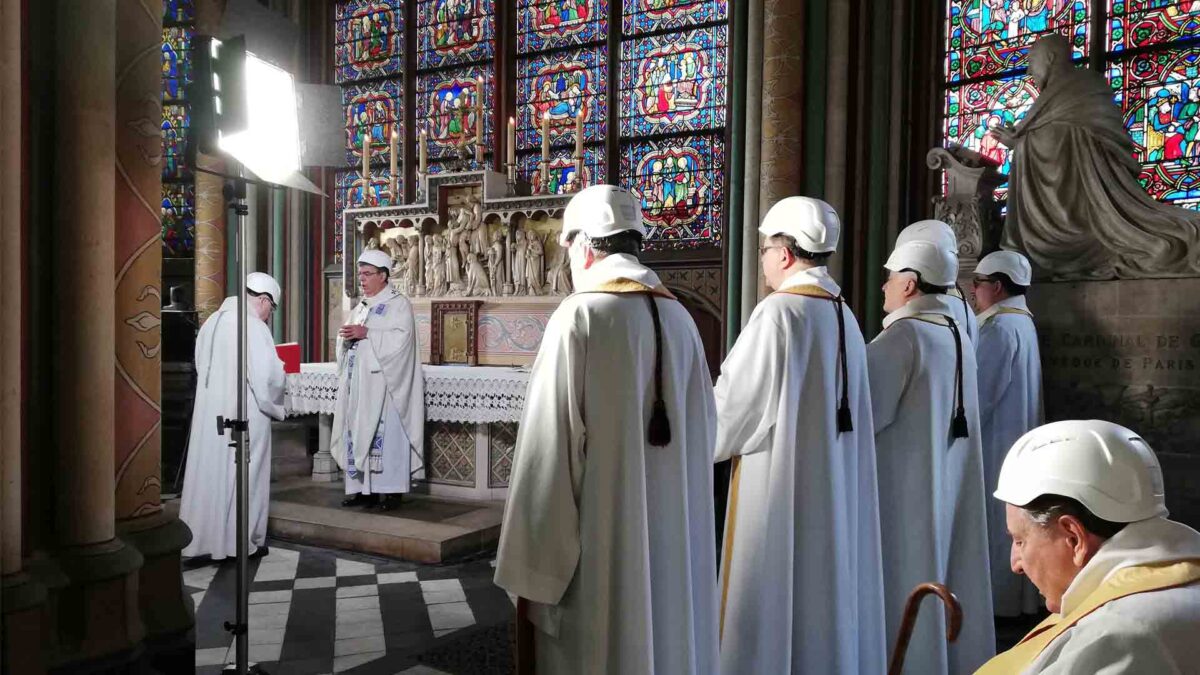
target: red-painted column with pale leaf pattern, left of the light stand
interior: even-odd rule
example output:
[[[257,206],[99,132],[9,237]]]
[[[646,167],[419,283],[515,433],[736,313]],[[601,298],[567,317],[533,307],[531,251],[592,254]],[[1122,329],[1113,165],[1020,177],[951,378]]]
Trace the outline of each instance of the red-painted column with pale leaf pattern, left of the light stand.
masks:
[[[116,0],[116,531],[145,560],[138,578],[146,646],[161,670],[187,670],[194,623],[180,551],[187,526],[162,488],[162,13]]]

